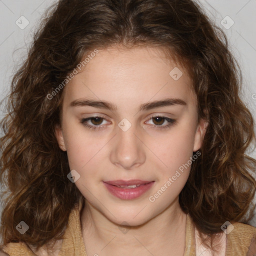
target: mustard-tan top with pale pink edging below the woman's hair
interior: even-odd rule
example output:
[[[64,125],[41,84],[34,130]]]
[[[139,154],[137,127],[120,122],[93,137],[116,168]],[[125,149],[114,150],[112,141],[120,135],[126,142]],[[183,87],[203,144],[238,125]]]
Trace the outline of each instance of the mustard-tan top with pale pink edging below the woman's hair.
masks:
[[[82,204],[77,204],[72,209],[60,249],[51,253],[44,249],[33,251],[25,243],[8,243],[2,250],[9,256],[86,256],[81,233],[80,210]],[[233,230],[222,232],[222,253],[217,256],[254,256],[256,255],[256,228],[240,222],[232,223]],[[229,227],[229,226],[228,226]],[[228,230],[228,229],[227,229]],[[187,214],[185,233],[184,256],[207,256],[211,255],[198,243],[197,230],[191,217]],[[195,252],[196,251],[196,252]]]

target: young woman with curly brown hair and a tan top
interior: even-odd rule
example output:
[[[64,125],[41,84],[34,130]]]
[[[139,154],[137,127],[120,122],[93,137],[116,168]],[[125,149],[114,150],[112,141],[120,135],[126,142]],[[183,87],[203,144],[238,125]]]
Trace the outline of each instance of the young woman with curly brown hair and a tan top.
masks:
[[[192,0],[60,0],[2,120],[1,254],[253,255],[238,70]]]

